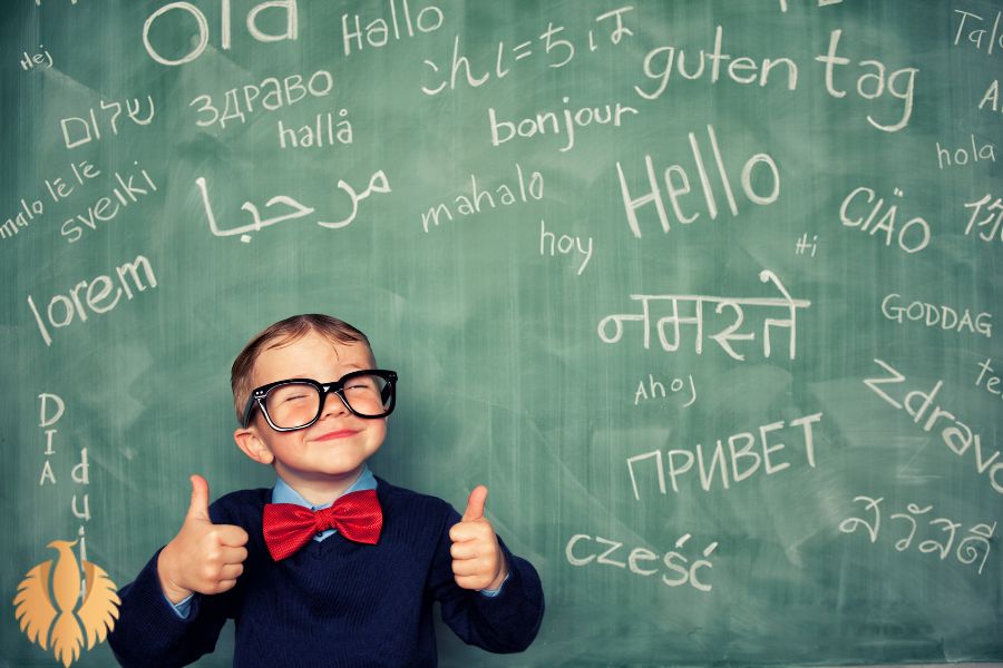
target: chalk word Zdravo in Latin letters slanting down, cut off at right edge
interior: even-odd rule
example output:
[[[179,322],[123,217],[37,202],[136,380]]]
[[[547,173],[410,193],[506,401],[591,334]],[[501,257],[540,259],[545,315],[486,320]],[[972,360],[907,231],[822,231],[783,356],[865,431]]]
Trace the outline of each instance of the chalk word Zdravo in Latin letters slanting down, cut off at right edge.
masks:
[[[888,393],[890,390],[885,390],[884,386],[904,384],[906,377],[883,360],[875,358],[874,362],[889,375],[864,379],[864,384],[890,406],[899,411],[905,410],[916,424],[919,424],[919,421],[926,415],[926,411],[933,406],[929,418],[922,426],[923,431],[931,432],[938,422],[942,423],[941,439],[944,441],[944,445],[961,458],[964,458],[965,453],[971,450],[975,472],[985,475],[993,490],[1003,494],[1003,458],[1000,456],[1000,451],[993,450],[992,456],[986,458],[982,450],[982,436],[974,433],[972,428],[962,422],[960,418],[945,411],[941,405],[934,404],[934,399],[944,386],[944,381],[938,380],[929,392],[913,390],[902,401],[898,401]],[[916,405],[921,401],[922,403]]]

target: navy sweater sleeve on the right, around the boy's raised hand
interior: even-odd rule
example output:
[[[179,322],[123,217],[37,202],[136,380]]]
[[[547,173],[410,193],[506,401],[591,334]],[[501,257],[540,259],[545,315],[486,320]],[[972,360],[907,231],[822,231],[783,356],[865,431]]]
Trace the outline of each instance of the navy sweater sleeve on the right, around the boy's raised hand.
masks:
[[[539,630],[544,613],[543,587],[533,564],[516,557],[499,538],[509,578],[496,597],[464,589],[452,577],[449,530],[460,521],[455,509],[442,527],[431,570],[431,587],[445,621],[459,638],[497,654],[524,651]]]

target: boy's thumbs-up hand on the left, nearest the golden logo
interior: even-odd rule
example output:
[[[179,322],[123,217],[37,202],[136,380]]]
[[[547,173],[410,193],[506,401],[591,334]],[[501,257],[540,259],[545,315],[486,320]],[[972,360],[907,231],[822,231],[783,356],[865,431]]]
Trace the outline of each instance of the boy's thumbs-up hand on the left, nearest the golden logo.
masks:
[[[191,480],[185,522],[157,559],[160,588],[174,603],[195,591],[212,595],[232,589],[247,559],[247,532],[234,524],[213,524],[208,483],[201,475]]]

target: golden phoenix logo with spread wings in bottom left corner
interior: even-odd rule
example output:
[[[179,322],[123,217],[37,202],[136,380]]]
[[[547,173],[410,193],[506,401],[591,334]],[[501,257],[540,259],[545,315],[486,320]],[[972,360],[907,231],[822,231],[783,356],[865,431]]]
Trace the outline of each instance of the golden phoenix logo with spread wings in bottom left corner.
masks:
[[[72,551],[76,544],[68,540],[50,542],[47,547],[57,550],[59,557],[29,570],[13,600],[21,631],[45,650],[51,645],[56,659],[66,668],[80,658],[85,633],[88,650],[95,641],[105,641],[115,628],[121,603],[115,582],[101,567],[84,561],[81,578]]]

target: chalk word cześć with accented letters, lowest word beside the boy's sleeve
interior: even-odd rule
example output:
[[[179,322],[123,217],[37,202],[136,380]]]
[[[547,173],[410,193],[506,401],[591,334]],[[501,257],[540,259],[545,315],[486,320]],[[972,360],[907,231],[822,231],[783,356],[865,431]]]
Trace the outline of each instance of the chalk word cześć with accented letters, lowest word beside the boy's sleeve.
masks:
[[[689,584],[699,591],[710,591],[713,589],[713,584],[709,581],[710,573],[702,571],[710,571],[713,568],[710,557],[718,549],[718,541],[705,544],[702,550],[699,550],[695,558],[692,553],[688,558],[683,551],[692,538],[692,534],[684,533],[675,541],[672,550],[659,557],[652,550],[641,547],[634,548],[625,554],[626,550],[622,549],[624,543],[621,541],[601,536],[576,533],[568,539],[564,547],[564,556],[572,566],[590,568],[611,566],[641,577],[651,577],[661,570],[663,572],[659,579],[666,587]],[[656,562],[660,559],[664,568],[647,568],[647,566],[654,566],[650,562]]]

